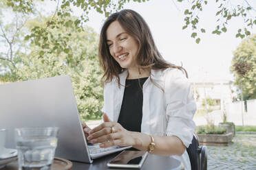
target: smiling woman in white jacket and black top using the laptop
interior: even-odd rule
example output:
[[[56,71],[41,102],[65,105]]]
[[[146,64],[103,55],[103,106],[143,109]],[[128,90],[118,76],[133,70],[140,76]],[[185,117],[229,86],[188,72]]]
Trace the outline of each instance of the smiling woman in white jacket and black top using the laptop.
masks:
[[[162,58],[140,14],[122,10],[109,16],[98,56],[104,71],[104,123],[92,130],[84,124],[87,140],[100,147],[175,155],[191,169],[186,152],[195,128],[191,86],[182,67]]]

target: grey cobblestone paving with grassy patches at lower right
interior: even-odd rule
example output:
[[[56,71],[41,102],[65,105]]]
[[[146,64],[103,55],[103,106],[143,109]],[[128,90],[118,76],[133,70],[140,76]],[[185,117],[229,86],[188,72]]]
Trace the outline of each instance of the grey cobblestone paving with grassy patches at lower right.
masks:
[[[207,149],[209,170],[256,169],[256,134],[235,134],[231,145]]]

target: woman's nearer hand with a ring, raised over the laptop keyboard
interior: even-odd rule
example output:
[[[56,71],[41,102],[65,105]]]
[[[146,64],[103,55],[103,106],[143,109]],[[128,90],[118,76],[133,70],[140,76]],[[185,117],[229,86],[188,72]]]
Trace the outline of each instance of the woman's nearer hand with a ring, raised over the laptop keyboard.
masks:
[[[94,127],[89,133],[90,143],[100,143],[100,147],[111,146],[132,146],[135,145],[135,138],[132,132],[125,130],[119,123],[110,121],[107,114],[103,114],[104,123]]]

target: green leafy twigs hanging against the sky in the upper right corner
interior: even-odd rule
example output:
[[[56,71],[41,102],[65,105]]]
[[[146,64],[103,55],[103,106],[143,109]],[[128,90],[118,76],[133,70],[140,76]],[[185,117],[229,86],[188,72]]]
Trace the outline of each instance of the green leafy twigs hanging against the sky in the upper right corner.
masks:
[[[204,27],[199,27],[200,23],[200,12],[208,5],[209,0],[193,0],[185,1],[178,0],[179,2],[189,3],[190,8],[184,10],[184,26],[182,29],[191,26],[193,33],[191,34],[192,38],[196,38],[195,42],[199,43],[200,38],[198,37],[199,33],[204,34],[206,29]],[[213,30],[212,34],[220,35],[227,32],[227,25],[235,17],[242,17],[244,20],[245,26],[237,30],[236,37],[244,38],[245,36],[250,35],[248,28],[252,28],[253,25],[256,25],[255,13],[256,10],[248,3],[247,0],[244,0],[244,5],[242,3],[237,5],[232,5],[231,1],[228,0],[215,0],[215,5],[217,5],[217,16],[216,27]]]

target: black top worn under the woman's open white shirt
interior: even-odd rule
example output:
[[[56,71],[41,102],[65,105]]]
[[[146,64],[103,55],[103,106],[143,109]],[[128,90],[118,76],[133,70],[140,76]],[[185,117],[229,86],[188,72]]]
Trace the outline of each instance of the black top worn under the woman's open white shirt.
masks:
[[[148,77],[125,81],[125,93],[118,123],[126,130],[141,132],[143,92],[142,86]]]

